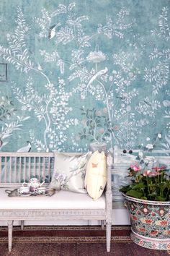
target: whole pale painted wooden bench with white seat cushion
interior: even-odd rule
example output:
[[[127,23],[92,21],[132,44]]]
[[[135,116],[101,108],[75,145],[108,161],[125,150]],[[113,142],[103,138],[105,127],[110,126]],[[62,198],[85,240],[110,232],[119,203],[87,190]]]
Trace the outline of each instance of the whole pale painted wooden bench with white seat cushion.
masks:
[[[79,153],[72,153],[77,155]],[[55,153],[0,153],[0,220],[8,225],[9,252],[12,251],[14,221],[25,220],[100,220],[106,224],[107,252],[110,251],[112,226],[112,157],[107,155],[107,187],[98,200],[88,194],[59,191],[55,195],[8,197],[5,189],[15,189],[36,176],[45,185],[50,183],[57,160]]]

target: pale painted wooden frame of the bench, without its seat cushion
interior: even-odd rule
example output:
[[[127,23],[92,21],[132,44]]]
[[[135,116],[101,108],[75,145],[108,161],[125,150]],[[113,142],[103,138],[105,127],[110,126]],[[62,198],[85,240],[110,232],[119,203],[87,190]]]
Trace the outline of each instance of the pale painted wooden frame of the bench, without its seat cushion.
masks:
[[[77,155],[77,153],[71,154]],[[20,187],[22,182],[28,182],[32,176],[37,176],[39,179],[46,178],[46,181],[49,183],[56,162],[57,155],[55,153],[1,152],[0,187],[4,187],[4,189]],[[106,223],[107,252],[109,252],[112,226],[111,173],[112,157],[107,155],[107,188],[106,192],[104,192],[104,208],[95,208],[94,206],[94,208],[79,209],[75,200],[73,205],[76,206],[69,209],[57,208],[56,206],[53,209],[45,209],[43,202],[41,206],[39,205],[39,208],[12,208],[9,205],[8,207],[1,208],[0,221],[6,220],[9,229],[9,252],[12,250],[12,226],[15,221],[19,221],[22,229],[24,229],[23,221],[44,221],[46,225],[48,221],[53,223],[54,221],[71,221],[72,224],[73,221],[88,221],[88,223],[89,221],[99,221],[100,223],[104,221]],[[25,198],[25,200],[27,199]]]

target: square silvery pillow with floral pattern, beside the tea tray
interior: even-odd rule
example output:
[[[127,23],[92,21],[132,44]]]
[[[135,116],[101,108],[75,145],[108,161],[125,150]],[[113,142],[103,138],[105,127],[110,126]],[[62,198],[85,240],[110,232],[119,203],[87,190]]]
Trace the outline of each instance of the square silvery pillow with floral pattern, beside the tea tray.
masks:
[[[91,152],[81,155],[55,153],[56,163],[49,188],[86,193],[84,177]]]

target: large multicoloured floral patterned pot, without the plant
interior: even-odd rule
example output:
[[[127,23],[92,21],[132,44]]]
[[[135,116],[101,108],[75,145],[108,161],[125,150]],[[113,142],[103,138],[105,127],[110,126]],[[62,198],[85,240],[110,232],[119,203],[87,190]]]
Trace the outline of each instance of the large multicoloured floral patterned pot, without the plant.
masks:
[[[130,213],[131,239],[148,249],[170,249],[170,202],[140,200],[122,194]]]

